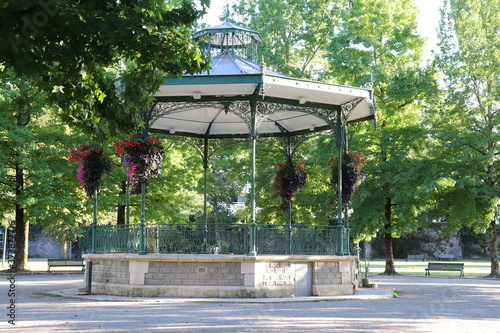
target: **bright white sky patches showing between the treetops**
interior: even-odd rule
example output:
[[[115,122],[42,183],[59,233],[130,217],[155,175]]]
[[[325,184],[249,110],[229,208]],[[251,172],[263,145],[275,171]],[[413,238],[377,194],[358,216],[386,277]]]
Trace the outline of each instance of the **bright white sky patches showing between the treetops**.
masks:
[[[212,0],[208,13],[203,17],[202,22],[209,26],[221,23],[218,17],[224,12],[224,7],[237,0]],[[439,22],[439,7],[443,0],[415,0],[420,8],[418,28],[422,37],[428,38],[426,53],[430,53],[437,43],[436,28]]]

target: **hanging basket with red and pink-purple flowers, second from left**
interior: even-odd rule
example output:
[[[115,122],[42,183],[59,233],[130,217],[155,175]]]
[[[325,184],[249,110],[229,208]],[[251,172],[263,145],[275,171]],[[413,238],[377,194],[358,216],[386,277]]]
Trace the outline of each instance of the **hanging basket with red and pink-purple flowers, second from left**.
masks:
[[[151,177],[159,178],[165,155],[160,140],[131,135],[115,142],[114,147],[117,154],[123,154],[122,164],[132,185],[132,194],[141,192],[142,182],[149,185]]]

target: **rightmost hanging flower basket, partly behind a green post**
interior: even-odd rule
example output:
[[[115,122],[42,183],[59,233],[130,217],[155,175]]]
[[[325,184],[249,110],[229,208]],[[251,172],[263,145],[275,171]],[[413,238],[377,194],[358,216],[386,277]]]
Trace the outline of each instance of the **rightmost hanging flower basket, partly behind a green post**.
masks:
[[[338,193],[338,164],[337,158],[332,158],[332,179],[330,185],[334,191]],[[346,153],[342,160],[342,204],[346,206],[351,201],[352,195],[358,190],[358,187],[363,183],[366,178],[364,171],[366,165],[365,155],[356,155]],[[338,203],[338,196],[336,196],[331,204],[336,206]]]

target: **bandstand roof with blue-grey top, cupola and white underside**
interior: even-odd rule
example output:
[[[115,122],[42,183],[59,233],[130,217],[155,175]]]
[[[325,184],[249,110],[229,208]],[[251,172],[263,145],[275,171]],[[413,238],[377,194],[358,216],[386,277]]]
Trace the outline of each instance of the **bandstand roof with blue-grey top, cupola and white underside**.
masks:
[[[258,135],[281,136],[331,129],[339,110],[347,122],[374,118],[370,89],[289,77],[219,43],[235,40],[224,33],[252,36],[258,42],[255,31],[227,22],[206,30],[198,35],[215,31],[221,53],[211,58],[209,71],[165,79],[155,95],[157,104],[149,124],[152,132],[248,137],[254,115]]]

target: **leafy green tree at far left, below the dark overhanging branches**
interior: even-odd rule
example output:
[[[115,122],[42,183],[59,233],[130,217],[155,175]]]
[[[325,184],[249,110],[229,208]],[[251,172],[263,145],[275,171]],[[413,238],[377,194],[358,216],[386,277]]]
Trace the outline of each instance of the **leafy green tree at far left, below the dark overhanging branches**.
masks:
[[[46,95],[10,73],[0,81],[0,190],[2,212],[14,213],[13,270],[25,269],[28,226],[44,219],[76,224],[81,200],[68,183],[68,129],[58,122]]]

